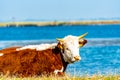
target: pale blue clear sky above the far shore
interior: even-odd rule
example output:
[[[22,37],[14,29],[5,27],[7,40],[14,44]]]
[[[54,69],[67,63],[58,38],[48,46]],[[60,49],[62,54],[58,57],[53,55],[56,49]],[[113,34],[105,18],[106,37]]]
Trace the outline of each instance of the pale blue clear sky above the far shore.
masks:
[[[120,19],[120,0],[0,0],[0,21]]]

